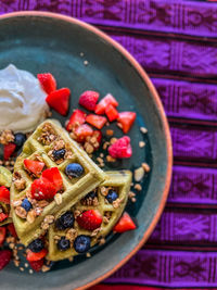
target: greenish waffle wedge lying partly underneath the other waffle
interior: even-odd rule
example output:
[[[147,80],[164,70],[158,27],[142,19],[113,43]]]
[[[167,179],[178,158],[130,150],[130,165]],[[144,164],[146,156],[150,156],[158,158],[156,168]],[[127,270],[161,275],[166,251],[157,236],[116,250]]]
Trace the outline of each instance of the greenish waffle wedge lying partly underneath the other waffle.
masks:
[[[99,243],[100,239],[102,239],[103,237],[106,237],[111,232],[111,230],[113,229],[113,227],[119,219],[120,215],[123,214],[123,211],[128,200],[128,193],[129,193],[130,184],[131,184],[131,172],[128,172],[128,171],[107,172],[106,174],[108,178],[102,185],[100,185],[100,187],[95,189],[98,203],[94,203],[94,200],[92,200],[91,203],[88,202],[87,204],[87,200],[82,199],[78,203],[76,203],[73,207],[68,206],[67,209],[65,209],[65,211],[73,211],[75,217],[76,217],[76,214],[78,214],[79,212],[81,213],[87,210],[98,210],[101,213],[101,215],[103,216],[103,223],[99,231],[98,229],[94,231],[82,229],[81,227],[79,227],[76,219],[74,222],[74,229],[77,232],[76,235],[77,236],[79,235],[90,236],[91,247]],[[113,204],[106,202],[105,193],[102,194],[102,192],[106,192],[108,188],[115,189],[116,192],[118,193],[118,199],[122,200],[118,206],[115,206],[115,205],[113,206]],[[58,215],[55,216],[55,219],[58,219],[62,214],[64,214],[65,211],[59,212]],[[48,259],[49,260],[59,261],[59,260],[64,260],[64,259],[72,257],[78,254],[73,248],[73,241],[76,236],[69,239],[67,236],[69,235],[69,232],[71,232],[71,229],[65,229],[65,230],[56,229],[55,224],[53,224],[50,227],[49,234],[48,234],[48,243],[49,243]],[[58,249],[56,242],[61,237],[66,237],[66,239],[71,240],[71,247],[72,247],[71,249],[66,251],[60,251]]]

